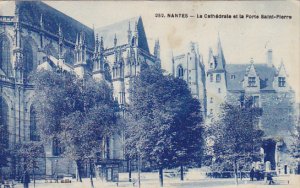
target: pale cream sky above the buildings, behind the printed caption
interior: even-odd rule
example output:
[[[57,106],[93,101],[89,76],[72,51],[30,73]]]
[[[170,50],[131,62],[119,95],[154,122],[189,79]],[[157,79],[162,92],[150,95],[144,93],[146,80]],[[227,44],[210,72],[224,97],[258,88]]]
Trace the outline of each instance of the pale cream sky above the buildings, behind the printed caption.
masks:
[[[300,2],[299,1],[47,1],[50,6],[89,27],[102,27],[141,16],[150,50],[156,39],[161,45],[162,66],[171,67],[171,53],[187,51],[197,42],[204,63],[208,50],[216,48],[220,36],[227,63],[266,62],[266,51],[273,50],[276,67],[283,61],[288,81],[300,101]],[[156,14],[183,13],[258,15],[259,18],[158,18]],[[292,19],[261,19],[261,15],[292,16]]]

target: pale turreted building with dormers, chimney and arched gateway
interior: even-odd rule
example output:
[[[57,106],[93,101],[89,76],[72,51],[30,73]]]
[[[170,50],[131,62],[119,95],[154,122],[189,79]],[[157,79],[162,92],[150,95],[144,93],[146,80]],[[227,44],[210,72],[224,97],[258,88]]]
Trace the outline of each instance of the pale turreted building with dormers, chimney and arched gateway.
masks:
[[[220,38],[216,49],[215,53],[212,48],[209,49],[205,69],[200,69],[197,75],[189,75],[191,78],[187,75],[189,71],[186,71],[190,63],[188,59],[185,56],[174,57],[173,74],[188,82],[195,97],[197,95],[189,80],[205,75],[205,87],[201,88],[205,97],[200,102],[206,112],[207,125],[218,117],[224,102],[243,105],[245,99],[250,98],[253,105],[262,108],[259,127],[265,132],[265,136],[261,161],[269,161],[271,170],[276,170],[277,173],[293,172],[296,164],[289,149],[293,142],[292,134],[295,132],[297,116],[295,93],[288,83],[284,63],[281,62],[276,68],[272,50],[268,50],[266,62],[256,63],[251,59],[249,63],[229,64],[225,60]]]

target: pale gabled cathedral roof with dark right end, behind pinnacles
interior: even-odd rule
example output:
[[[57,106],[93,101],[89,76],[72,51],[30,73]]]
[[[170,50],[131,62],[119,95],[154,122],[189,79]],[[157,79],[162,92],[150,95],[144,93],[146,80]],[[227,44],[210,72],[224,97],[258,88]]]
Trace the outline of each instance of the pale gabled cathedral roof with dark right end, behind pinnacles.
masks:
[[[96,29],[99,37],[103,37],[104,48],[114,47],[114,38],[117,36],[117,46],[128,44],[128,28],[130,23],[130,30],[132,36],[134,35],[135,23],[137,22],[138,28],[138,47],[149,52],[148,42],[146,38],[146,33],[144,30],[144,25],[141,17],[134,17],[126,19],[108,26],[100,27]]]

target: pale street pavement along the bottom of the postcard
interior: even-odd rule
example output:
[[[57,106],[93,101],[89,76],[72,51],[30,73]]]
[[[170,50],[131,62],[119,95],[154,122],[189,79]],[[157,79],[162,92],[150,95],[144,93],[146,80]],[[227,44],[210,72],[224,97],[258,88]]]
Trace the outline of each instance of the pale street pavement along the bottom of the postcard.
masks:
[[[137,174],[133,173],[132,177],[134,180],[137,179]],[[120,182],[102,182],[99,179],[94,179],[95,188],[114,188],[114,187],[138,187],[138,183],[135,185],[128,182],[128,174],[120,174]],[[178,177],[164,178],[164,187],[167,188],[300,188],[300,175],[286,175],[274,178],[275,185],[268,185],[265,181],[249,181],[249,179],[239,180],[239,184],[235,184],[233,178],[226,179],[211,179],[211,178],[186,178],[185,181],[180,181]],[[21,184],[17,184],[15,188],[23,187]],[[33,188],[33,183],[30,184],[30,188]],[[39,180],[36,182],[35,188],[90,188],[90,180],[83,179],[82,183],[76,182],[72,183],[45,183],[45,181]],[[142,188],[158,188],[158,174],[157,173],[142,173],[141,175],[141,187]]]

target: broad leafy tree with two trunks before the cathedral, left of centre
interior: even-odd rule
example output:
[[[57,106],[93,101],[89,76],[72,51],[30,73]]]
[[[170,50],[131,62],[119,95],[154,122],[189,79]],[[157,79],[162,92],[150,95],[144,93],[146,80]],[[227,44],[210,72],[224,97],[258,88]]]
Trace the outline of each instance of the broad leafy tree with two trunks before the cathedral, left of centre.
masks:
[[[33,83],[43,143],[58,143],[62,156],[76,163],[79,181],[88,163],[93,187],[92,167],[104,150],[102,142],[119,131],[111,87],[104,81],[44,70],[34,75]]]

